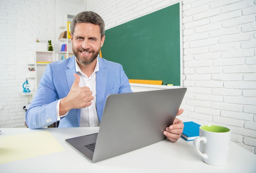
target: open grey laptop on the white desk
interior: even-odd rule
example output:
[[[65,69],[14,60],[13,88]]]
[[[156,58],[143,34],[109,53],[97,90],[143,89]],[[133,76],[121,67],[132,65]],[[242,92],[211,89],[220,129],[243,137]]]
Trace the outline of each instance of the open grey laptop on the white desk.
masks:
[[[109,95],[99,133],[66,139],[91,162],[99,162],[166,139],[186,88]]]

